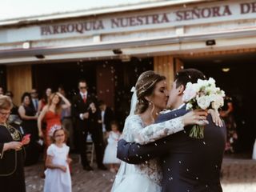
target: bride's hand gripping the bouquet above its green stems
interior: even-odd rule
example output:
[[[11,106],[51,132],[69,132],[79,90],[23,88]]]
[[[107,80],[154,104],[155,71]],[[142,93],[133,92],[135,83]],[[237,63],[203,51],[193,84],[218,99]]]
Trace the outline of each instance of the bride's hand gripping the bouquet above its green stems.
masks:
[[[184,126],[197,124],[199,126],[205,126],[209,122],[206,120],[208,113],[206,110],[192,110],[189,113],[182,116],[182,122]]]

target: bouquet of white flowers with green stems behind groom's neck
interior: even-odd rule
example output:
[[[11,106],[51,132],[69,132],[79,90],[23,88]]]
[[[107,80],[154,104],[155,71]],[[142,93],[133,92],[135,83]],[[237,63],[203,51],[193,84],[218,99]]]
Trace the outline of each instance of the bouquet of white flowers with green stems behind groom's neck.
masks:
[[[186,102],[186,110],[209,110],[218,111],[224,104],[225,93],[216,87],[214,78],[209,80],[198,79],[197,83],[188,82],[183,94]],[[191,138],[203,138],[204,126],[194,125],[190,131]]]

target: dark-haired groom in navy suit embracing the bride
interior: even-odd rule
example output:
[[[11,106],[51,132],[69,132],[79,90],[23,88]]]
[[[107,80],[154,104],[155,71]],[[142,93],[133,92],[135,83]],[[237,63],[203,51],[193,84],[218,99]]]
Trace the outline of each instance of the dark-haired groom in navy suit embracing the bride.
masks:
[[[176,74],[170,90],[167,106],[172,110],[159,115],[156,122],[177,118],[186,114],[186,105],[182,102],[187,82],[205,79],[199,70],[181,70]],[[118,158],[132,164],[146,163],[151,158],[159,158],[162,166],[162,191],[164,192],[221,192],[220,171],[226,143],[225,127],[209,122],[204,130],[204,138],[190,138],[190,127],[171,134],[154,143],[139,145],[125,140],[118,142]]]

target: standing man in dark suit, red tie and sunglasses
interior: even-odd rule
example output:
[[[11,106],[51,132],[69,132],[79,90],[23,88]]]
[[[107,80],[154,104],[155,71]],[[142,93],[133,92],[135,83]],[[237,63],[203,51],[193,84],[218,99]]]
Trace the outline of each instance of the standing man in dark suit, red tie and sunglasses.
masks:
[[[103,139],[98,127],[97,100],[94,95],[88,93],[85,80],[78,82],[79,93],[74,95],[72,102],[72,114],[75,119],[76,130],[78,131],[78,147],[80,150],[81,162],[84,170],[93,170],[87,159],[86,140],[88,133],[92,134],[95,146],[96,161],[98,169],[106,170],[103,165]]]

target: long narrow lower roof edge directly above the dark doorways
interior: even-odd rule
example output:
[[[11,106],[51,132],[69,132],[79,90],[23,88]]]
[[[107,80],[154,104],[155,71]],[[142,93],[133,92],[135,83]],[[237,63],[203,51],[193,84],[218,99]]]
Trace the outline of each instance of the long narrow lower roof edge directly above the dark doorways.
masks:
[[[182,42],[202,42],[208,39],[229,39],[229,38],[243,38],[254,37],[256,34],[256,28],[249,30],[226,30],[218,33],[207,34],[185,34],[182,36],[164,37],[164,38],[146,38],[142,40],[134,41],[122,41],[122,42],[101,42],[94,44],[87,44],[85,46],[67,46],[67,47],[38,47],[35,49],[19,49],[19,50],[2,50],[0,51],[0,58],[14,58],[24,56],[34,56],[36,54],[66,54],[86,51],[97,50],[113,50],[132,47],[143,46],[160,46],[170,45],[174,43]]]

